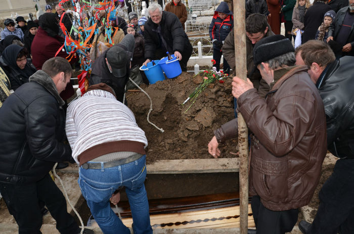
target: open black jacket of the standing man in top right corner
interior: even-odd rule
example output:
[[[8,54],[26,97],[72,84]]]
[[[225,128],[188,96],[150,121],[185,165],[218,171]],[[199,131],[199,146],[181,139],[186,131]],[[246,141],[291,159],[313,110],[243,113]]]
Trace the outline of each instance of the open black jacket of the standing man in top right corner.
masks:
[[[328,36],[333,36],[333,39],[336,40],[339,30],[342,27],[343,21],[344,21],[344,17],[348,12],[348,8],[349,7],[343,7],[342,9],[340,9],[337,13],[336,19],[335,19],[335,23],[332,23],[329,26],[328,29]],[[351,51],[349,53],[347,53],[347,55],[349,56],[354,56],[354,22],[351,24],[351,29],[350,29],[350,33],[349,36],[346,40],[346,43],[350,43],[351,44]]]

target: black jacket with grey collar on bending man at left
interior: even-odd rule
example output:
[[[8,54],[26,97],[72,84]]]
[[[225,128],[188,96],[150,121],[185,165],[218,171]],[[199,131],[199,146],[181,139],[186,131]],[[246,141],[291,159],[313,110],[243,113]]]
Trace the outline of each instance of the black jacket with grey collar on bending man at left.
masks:
[[[64,136],[65,115],[52,78],[39,70],[0,108],[0,182],[42,179],[57,161],[72,160]]]

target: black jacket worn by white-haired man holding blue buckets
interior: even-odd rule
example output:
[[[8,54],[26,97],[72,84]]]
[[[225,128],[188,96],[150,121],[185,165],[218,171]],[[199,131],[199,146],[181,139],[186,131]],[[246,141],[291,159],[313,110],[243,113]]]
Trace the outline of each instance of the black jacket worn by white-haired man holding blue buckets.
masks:
[[[165,39],[167,51],[173,54],[175,51],[180,52],[182,55],[185,50],[192,48],[189,42],[188,36],[183,30],[182,24],[179,18],[170,12],[162,12],[161,34]],[[158,35],[158,24],[152,22],[149,18],[145,22],[145,58],[153,60],[156,49],[162,49],[162,41]]]

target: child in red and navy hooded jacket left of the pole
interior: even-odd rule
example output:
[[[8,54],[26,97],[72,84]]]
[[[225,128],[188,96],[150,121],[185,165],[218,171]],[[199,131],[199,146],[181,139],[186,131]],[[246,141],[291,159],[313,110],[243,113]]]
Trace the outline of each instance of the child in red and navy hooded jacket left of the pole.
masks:
[[[213,43],[213,59],[215,60],[214,67],[217,71],[220,68],[220,60],[223,55],[222,47],[224,40],[229,32],[234,27],[234,18],[229,6],[226,2],[221,2],[216,8],[214,16],[209,26],[209,36]],[[230,66],[224,58],[224,73],[230,73]]]

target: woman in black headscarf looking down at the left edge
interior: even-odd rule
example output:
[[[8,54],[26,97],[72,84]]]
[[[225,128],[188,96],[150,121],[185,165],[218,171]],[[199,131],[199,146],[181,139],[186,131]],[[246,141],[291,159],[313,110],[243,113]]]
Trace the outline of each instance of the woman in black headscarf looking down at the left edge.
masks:
[[[0,57],[0,65],[10,79],[11,88],[16,90],[28,82],[28,78],[36,72],[35,67],[27,60],[28,52],[17,44],[9,45]]]

